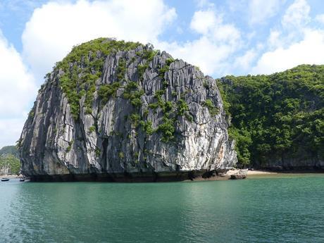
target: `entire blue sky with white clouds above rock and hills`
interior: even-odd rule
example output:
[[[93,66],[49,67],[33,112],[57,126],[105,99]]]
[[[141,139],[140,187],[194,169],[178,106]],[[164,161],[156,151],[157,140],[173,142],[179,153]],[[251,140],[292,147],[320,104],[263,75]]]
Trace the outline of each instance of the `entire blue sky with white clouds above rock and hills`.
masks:
[[[212,77],[324,64],[322,0],[0,0],[0,148],[44,75],[97,37],[154,44]]]

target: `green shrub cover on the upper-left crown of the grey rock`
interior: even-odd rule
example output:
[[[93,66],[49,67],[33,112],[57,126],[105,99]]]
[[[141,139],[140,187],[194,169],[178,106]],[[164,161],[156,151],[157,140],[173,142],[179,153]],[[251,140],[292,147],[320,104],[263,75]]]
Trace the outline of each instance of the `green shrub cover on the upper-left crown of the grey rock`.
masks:
[[[101,77],[106,56],[116,53],[118,50],[136,49],[139,45],[141,45],[139,42],[124,42],[106,38],[94,39],[75,46],[63,61],[56,63],[55,70],[63,71],[60,77],[60,85],[68,98],[71,113],[75,120],[80,114],[82,96],[85,96],[85,108],[87,111],[91,111],[94,92],[96,91],[95,82]],[[118,78],[122,77],[124,70],[125,61],[121,61],[117,70]],[[101,94],[107,92],[107,94],[112,95],[118,89],[116,86],[101,88]]]

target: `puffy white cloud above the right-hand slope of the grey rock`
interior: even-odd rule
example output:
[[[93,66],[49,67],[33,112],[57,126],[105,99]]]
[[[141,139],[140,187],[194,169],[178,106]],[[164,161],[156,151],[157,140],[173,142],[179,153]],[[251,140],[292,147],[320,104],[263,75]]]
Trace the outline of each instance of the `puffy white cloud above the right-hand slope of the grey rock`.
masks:
[[[198,39],[184,43],[160,42],[156,46],[199,66],[205,74],[225,74],[230,65],[228,59],[241,44],[239,30],[223,23],[223,16],[213,9],[195,12],[190,28],[200,35]]]

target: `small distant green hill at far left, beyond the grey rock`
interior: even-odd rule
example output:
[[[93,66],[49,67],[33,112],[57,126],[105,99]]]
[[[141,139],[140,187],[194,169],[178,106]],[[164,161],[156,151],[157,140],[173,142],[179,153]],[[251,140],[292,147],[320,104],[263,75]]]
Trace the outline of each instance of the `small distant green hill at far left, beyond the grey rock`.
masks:
[[[17,175],[20,171],[19,153],[15,146],[0,149],[0,175]]]

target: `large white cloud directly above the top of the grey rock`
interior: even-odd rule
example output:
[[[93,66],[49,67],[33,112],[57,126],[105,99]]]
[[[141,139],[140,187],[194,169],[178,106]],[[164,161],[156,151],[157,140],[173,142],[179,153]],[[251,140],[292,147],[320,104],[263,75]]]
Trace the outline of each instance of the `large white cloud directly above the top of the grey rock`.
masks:
[[[42,77],[75,44],[97,37],[154,43],[175,17],[163,0],[50,2],[35,9],[26,24],[23,56]]]

